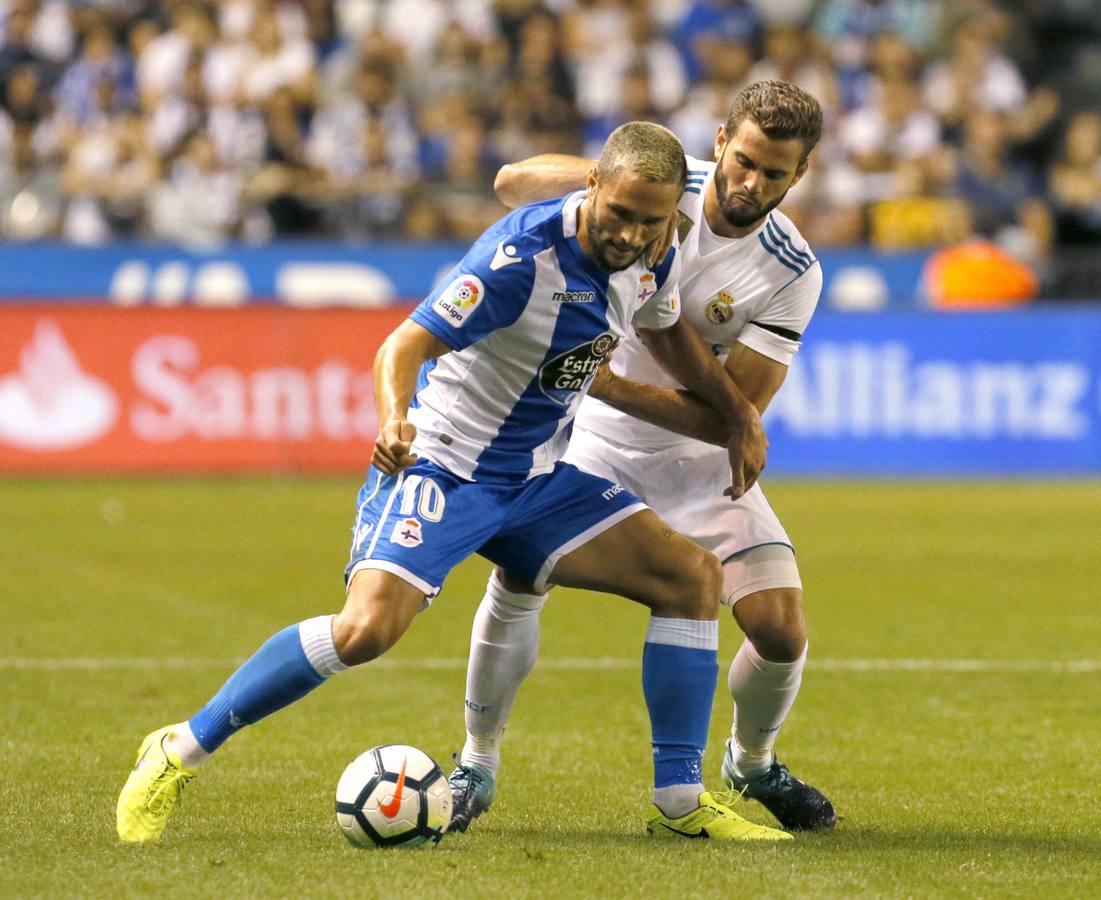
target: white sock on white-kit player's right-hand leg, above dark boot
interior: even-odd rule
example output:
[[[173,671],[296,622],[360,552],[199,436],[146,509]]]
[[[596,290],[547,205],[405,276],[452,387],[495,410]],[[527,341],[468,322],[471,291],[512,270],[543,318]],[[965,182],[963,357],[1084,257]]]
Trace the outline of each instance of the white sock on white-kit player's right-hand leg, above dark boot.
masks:
[[[772,763],[780,726],[799,693],[809,644],[794,662],[770,662],[746,640],[730,663],[727,684],[734,698],[734,767],[749,776]]]

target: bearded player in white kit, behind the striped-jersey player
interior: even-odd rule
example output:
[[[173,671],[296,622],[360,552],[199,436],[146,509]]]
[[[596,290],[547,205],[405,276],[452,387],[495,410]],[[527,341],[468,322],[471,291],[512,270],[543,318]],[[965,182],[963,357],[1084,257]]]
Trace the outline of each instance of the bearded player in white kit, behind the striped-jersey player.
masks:
[[[776,208],[806,171],[820,133],[813,97],[794,85],[759,82],[738,95],[718,129],[717,162],[688,158],[678,205],[684,316],[762,412],[821,291],[818,261]],[[535,156],[502,169],[498,193],[509,204],[555,195],[582,181],[591,165]],[[723,779],[785,828],[830,828],[837,818],[830,801],[773,752],[808,647],[792,542],[759,485],[735,502],[723,496],[727,459],[715,445],[726,440],[713,412],[680,390],[637,335],[622,341],[611,369],[614,376],[598,379],[581,403],[565,458],[644,498],[672,528],[718,556],[723,603],[746,636],[728,676],[734,718]],[[471,636],[467,741],[451,774],[453,828],[465,828],[492,802],[501,736],[535,661],[545,597],[508,595],[490,579]]]

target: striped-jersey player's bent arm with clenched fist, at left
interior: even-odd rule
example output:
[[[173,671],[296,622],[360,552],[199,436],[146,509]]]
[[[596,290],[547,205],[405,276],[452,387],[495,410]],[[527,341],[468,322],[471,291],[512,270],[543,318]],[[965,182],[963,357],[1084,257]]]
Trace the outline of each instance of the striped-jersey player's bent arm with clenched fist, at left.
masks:
[[[413,319],[405,319],[382,343],[374,357],[374,408],[379,413],[379,436],[371,463],[393,475],[416,463],[411,453],[416,427],[406,418],[416,393],[421,367],[450,351],[443,340]]]

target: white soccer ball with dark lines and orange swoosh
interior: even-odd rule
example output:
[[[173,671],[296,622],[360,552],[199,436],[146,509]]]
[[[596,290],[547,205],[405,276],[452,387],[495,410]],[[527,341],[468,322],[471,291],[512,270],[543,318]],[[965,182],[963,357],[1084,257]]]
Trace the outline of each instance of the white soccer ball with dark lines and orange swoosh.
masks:
[[[358,847],[438,844],[450,822],[444,770],[416,747],[372,747],[348,763],[337,783],[337,823]]]

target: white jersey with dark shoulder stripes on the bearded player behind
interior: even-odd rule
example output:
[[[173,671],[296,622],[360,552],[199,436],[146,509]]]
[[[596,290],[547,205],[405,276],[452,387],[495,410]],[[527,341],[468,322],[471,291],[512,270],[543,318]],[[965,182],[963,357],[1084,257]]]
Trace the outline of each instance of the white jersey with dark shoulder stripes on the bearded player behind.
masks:
[[[821,293],[818,260],[778,209],[742,238],[713,235],[704,196],[715,163],[688,158],[688,186],[679,209],[691,221],[680,242],[684,315],[711,351],[726,360],[735,341],[788,365]],[[623,340],[612,370],[635,381],[682,387],[657,365],[636,335]],[[620,446],[662,448],[691,438],[625,415],[600,401],[581,403],[577,427]]]

